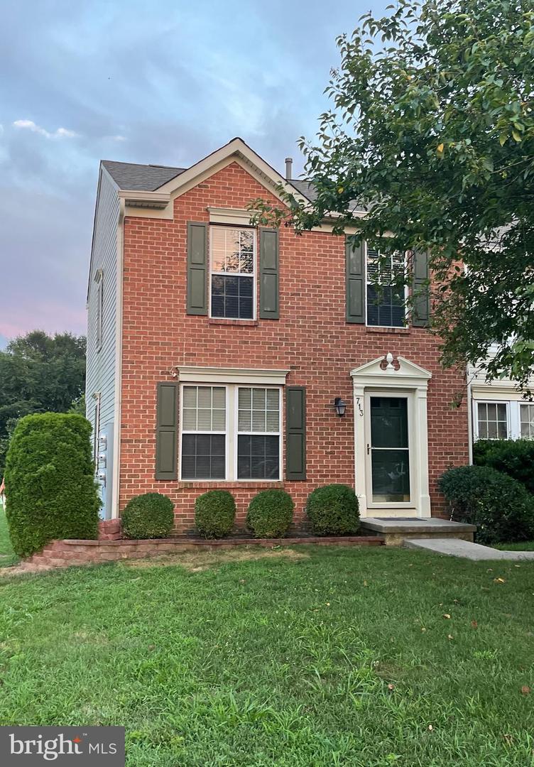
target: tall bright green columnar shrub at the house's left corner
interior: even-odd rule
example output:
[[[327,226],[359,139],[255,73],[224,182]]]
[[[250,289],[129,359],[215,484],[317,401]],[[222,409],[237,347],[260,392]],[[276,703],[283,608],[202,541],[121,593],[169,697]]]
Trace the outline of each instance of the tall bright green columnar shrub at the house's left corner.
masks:
[[[5,463],[6,517],[16,553],[54,538],[97,538],[101,500],[94,481],[91,423],[74,413],[18,421]]]

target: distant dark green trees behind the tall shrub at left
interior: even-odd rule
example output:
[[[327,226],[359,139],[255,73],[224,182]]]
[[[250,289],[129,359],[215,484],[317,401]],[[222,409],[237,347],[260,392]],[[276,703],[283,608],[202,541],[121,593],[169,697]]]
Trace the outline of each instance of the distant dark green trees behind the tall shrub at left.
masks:
[[[65,413],[85,386],[85,338],[31,331],[0,351],[0,476],[10,436],[30,413]]]

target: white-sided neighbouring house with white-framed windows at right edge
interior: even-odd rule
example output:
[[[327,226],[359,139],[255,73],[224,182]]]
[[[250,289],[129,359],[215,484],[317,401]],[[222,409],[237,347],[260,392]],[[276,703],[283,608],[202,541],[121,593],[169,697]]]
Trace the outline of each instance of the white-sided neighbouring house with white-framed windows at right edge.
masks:
[[[495,350],[489,349],[489,356]],[[509,378],[486,384],[482,367],[468,367],[473,439],[534,439],[534,402]],[[534,380],[531,382],[534,388]]]

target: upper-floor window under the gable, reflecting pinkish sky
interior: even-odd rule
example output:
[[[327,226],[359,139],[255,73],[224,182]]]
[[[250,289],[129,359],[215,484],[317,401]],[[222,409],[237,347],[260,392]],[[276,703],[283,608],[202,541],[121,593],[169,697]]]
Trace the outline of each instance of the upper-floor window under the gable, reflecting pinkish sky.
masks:
[[[254,229],[211,226],[209,250],[211,316],[254,319]]]

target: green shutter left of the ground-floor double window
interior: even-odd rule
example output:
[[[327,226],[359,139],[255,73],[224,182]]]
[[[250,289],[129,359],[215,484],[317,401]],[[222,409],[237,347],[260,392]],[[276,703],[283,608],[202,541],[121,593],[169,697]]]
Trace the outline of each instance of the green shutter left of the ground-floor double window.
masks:
[[[157,384],[156,479],[178,476],[178,383]]]

